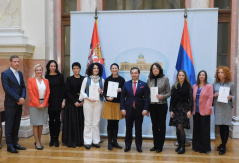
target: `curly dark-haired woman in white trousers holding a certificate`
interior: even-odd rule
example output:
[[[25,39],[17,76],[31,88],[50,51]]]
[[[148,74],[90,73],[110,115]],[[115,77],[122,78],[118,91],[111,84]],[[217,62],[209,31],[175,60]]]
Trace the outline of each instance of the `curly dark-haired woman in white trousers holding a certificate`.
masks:
[[[92,146],[100,148],[100,115],[103,108],[104,79],[100,63],[92,63],[87,69],[87,75],[81,85],[80,100],[84,99],[85,116],[84,144],[86,149]]]

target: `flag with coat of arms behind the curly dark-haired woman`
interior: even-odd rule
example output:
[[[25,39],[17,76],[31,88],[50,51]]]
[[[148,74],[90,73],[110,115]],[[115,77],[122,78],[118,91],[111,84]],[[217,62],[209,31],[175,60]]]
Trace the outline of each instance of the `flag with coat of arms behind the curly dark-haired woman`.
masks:
[[[95,19],[95,25],[94,25],[94,29],[93,29],[92,38],[91,38],[90,52],[89,52],[89,56],[88,56],[86,70],[91,63],[99,62],[103,68],[102,78],[105,79],[106,74],[105,74],[105,61],[104,60],[105,59],[102,56],[101,47],[100,47],[100,39],[99,39],[99,34],[98,34],[98,23],[97,23],[97,19]]]

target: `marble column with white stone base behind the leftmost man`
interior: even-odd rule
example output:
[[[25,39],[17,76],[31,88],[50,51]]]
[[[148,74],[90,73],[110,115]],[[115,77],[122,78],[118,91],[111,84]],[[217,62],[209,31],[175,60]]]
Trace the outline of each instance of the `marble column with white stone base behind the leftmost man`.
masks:
[[[9,68],[9,57],[11,55],[18,55],[21,60],[20,70],[24,74],[25,82],[27,82],[29,78],[29,59],[32,57],[35,47],[28,44],[28,37],[22,28],[22,0],[0,1],[0,11],[0,64],[2,65],[0,71],[2,72]],[[0,87],[0,93],[4,94],[2,87]],[[4,110],[4,98],[4,95],[0,97],[1,110]],[[32,135],[28,101],[29,98],[27,97],[26,103],[23,105],[19,137]]]

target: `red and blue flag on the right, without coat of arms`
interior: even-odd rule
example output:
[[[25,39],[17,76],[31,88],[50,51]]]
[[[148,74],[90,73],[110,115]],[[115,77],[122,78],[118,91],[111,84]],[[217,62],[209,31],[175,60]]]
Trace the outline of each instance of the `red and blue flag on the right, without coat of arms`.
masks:
[[[176,70],[184,70],[188,75],[188,79],[191,85],[196,83],[195,70],[193,64],[193,56],[191,50],[191,44],[188,33],[187,19],[184,21],[183,35],[178,52],[178,59],[176,63]]]

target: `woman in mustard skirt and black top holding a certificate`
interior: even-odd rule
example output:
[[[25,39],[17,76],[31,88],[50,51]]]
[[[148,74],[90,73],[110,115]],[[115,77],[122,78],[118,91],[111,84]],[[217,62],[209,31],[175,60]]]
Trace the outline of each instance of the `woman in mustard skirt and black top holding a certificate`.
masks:
[[[112,75],[105,79],[103,95],[106,99],[103,107],[102,118],[108,119],[108,149],[122,148],[117,142],[119,120],[124,116],[120,111],[121,88],[124,86],[124,78],[118,75],[119,65],[113,63],[110,66]]]

